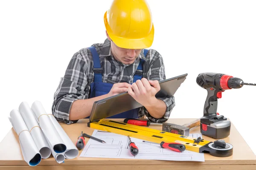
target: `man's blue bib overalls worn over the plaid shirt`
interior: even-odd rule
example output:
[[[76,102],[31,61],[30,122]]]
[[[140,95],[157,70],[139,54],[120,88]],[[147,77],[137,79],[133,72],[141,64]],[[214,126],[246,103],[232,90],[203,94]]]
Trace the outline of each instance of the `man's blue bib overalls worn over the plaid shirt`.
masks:
[[[100,60],[99,60],[99,54],[96,51],[96,48],[91,46],[89,47],[92,55],[93,55],[93,72],[94,72],[94,81],[90,84],[90,96],[89,98],[101,96],[104,94],[108,94],[109,91],[111,90],[113,84],[111,83],[105,83],[102,82],[102,68],[100,65]],[[148,50],[144,49],[144,55],[146,56]],[[134,74],[134,80],[133,82],[136,82],[138,79],[142,79],[143,77],[143,59],[140,59],[140,64],[138,65],[137,71]],[[108,118],[112,119],[125,119],[125,118],[133,118],[136,119],[138,118],[138,111],[139,108],[126,111],[123,113],[116,114],[114,116],[110,116]]]

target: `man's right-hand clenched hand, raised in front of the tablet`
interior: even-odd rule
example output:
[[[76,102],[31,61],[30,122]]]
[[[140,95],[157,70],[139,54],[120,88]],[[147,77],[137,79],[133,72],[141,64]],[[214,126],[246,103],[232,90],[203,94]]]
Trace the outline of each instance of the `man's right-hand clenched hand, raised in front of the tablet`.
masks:
[[[158,91],[160,91],[159,82],[157,80],[148,81],[145,78],[137,80],[131,87],[128,87],[128,94],[145,107],[156,102],[157,98],[155,95]]]

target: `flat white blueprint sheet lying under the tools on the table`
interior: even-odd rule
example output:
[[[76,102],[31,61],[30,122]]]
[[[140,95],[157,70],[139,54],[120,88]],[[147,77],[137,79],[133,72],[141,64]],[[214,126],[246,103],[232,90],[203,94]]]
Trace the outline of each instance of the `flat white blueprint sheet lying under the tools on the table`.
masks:
[[[200,133],[190,134],[190,136],[201,136]],[[119,158],[119,159],[152,159],[169,161],[204,161],[204,153],[196,153],[185,150],[182,153],[161,148],[160,145],[142,142],[143,140],[131,137],[139,148],[136,156],[131,155],[129,150],[129,139],[127,136],[110,132],[94,130],[92,136],[104,140],[106,143],[99,143],[89,139],[79,157],[98,158]]]

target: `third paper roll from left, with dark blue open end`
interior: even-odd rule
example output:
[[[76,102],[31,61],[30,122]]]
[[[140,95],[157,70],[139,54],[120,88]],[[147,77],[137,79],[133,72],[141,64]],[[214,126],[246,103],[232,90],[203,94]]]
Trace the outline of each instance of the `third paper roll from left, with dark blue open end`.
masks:
[[[31,110],[34,113],[45,138],[48,140],[47,142],[52,152],[64,153],[67,147],[61,139],[61,136],[58,134],[58,131],[52,124],[52,121],[44,110],[41,102],[35,101],[31,106]]]

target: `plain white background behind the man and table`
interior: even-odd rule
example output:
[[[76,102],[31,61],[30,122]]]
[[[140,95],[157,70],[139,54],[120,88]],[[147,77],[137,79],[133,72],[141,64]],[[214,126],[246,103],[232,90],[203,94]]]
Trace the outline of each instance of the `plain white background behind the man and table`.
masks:
[[[21,102],[39,100],[51,112],[54,92],[76,51],[106,38],[103,15],[111,0],[0,1],[0,141],[7,118]],[[207,91],[196,84],[202,72],[256,83],[256,1],[148,0],[154,43],[166,78],[188,74],[175,94],[172,118],[203,116]],[[165,42],[165,43],[164,43]],[[225,91],[218,112],[231,119],[256,153],[255,86]]]

